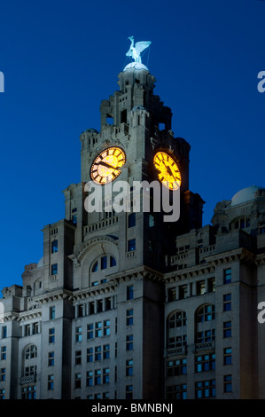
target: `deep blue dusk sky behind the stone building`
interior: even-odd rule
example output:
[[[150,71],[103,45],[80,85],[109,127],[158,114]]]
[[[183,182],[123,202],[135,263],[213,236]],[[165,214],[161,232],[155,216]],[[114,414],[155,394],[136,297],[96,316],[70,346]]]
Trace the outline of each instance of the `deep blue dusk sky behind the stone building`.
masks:
[[[24,266],[43,256],[43,226],[64,218],[62,191],[80,182],[80,135],[100,130],[131,35],[152,42],[143,63],[175,137],[191,145],[203,224],[218,201],[265,186],[264,20],[261,0],[2,0],[0,290],[22,285]]]

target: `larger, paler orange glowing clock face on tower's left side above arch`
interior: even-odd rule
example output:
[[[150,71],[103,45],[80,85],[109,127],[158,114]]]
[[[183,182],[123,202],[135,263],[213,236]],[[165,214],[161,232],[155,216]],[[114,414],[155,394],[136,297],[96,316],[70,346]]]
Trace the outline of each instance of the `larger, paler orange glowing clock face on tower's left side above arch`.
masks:
[[[118,146],[107,147],[93,161],[90,168],[91,179],[99,185],[112,182],[121,174],[121,167],[126,162],[123,149]]]

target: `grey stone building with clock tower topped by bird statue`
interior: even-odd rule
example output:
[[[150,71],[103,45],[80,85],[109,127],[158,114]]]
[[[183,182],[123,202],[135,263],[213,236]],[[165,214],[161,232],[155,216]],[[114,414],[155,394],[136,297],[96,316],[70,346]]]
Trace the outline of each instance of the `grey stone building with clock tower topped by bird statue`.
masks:
[[[64,191],[65,218],[43,227],[43,257],[23,287],[3,288],[1,399],[265,397],[265,189],[218,202],[202,227],[190,145],[141,62],[148,44],[131,38],[100,131],[81,134],[81,180]],[[105,193],[118,181],[127,210]],[[143,181],[150,206],[134,210]],[[171,202],[177,185],[177,221],[151,183]]]

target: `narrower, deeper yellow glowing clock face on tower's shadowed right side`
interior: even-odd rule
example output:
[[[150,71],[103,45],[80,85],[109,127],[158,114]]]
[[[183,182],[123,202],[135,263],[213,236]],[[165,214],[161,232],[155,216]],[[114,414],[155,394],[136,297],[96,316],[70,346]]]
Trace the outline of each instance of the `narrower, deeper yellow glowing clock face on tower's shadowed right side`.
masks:
[[[181,185],[181,173],[174,158],[169,153],[159,151],[153,157],[159,180],[169,190],[177,190]]]

